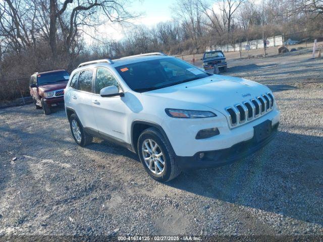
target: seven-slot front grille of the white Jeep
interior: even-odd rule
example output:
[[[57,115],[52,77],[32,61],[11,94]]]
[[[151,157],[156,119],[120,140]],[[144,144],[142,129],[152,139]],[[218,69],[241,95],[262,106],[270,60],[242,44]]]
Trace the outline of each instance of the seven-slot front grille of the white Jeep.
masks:
[[[234,127],[264,115],[271,111],[273,106],[274,96],[271,93],[264,93],[249,101],[244,101],[233,107],[227,107],[226,111],[229,115],[231,126]]]

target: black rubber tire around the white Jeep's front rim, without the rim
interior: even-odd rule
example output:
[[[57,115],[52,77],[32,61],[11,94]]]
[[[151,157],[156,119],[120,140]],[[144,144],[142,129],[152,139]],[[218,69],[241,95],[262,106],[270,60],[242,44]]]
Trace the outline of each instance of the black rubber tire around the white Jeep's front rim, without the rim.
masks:
[[[139,139],[138,139],[138,143],[137,143],[137,151],[138,151],[138,156],[140,158],[140,161],[144,167],[144,169],[147,171],[147,173],[152,177],[154,178],[155,180],[158,180],[158,181],[167,181],[170,176],[171,176],[171,171],[172,171],[172,167],[171,167],[171,161],[170,161],[170,155],[169,155],[169,152],[166,148],[166,145],[164,144],[164,142],[158,137],[157,134],[155,134],[157,131],[153,131],[153,130],[146,130],[144,132],[142,132],[142,134],[139,136]],[[159,134],[161,135],[161,134]],[[147,167],[144,159],[143,159],[143,156],[142,156],[142,152],[141,152],[141,146],[142,146],[142,143],[144,140],[146,139],[152,139],[154,142],[157,143],[157,145],[159,146],[161,152],[163,152],[164,154],[164,167],[165,167],[165,170],[163,171],[162,174],[160,175],[156,175],[154,173],[152,173],[149,168]]]

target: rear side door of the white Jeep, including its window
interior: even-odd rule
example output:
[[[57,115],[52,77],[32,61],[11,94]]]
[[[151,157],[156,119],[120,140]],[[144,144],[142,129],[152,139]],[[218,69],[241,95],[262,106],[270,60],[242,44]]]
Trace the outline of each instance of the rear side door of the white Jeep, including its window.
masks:
[[[92,109],[92,97],[93,97],[93,73],[94,69],[87,69],[79,72],[78,81],[74,86],[75,89],[71,89],[70,102],[75,110],[81,124],[84,128],[90,130],[97,130],[93,109]],[[74,77],[73,77],[74,79]],[[73,84],[73,79],[71,85]]]

